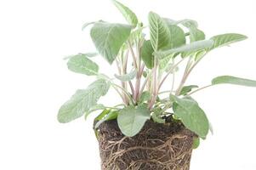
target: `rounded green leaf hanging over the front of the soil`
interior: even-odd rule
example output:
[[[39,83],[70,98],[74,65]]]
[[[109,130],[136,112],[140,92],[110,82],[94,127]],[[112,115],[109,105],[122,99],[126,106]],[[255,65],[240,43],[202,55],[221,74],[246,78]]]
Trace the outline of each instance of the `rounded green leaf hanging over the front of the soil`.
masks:
[[[128,105],[120,111],[117,122],[124,135],[133,137],[139,133],[145,122],[150,118],[151,113],[145,105]]]

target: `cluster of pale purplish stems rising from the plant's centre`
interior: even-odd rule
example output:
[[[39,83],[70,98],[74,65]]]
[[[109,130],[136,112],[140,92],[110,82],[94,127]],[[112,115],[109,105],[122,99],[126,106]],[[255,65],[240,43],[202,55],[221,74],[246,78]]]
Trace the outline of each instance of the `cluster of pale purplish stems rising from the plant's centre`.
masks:
[[[128,82],[122,82],[121,86],[113,83],[113,88],[116,89],[117,93],[121,96],[122,101],[125,105],[137,105],[140,99],[141,94],[146,90],[151,93],[151,99],[148,102],[148,108],[152,110],[153,106],[156,103],[156,99],[158,94],[162,93],[169,93],[169,94],[175,94],[179,96],[182,88],[185,85],[185,82],[189,75],[191,74],[191,71],[195,68],[195,66],[198,64],[198,62],[202,59],[195,60],[193,55],[190,57],[179,59],[177,63],[175,63],[174,58],[172,59],[173,65],[171,68],[168,69],[168,71],[163,75],[162,71],[160,71],[159,68],[159,62],[157,56],[154,57],[154,67],[152,69],[147,69],[145,67],[145,63],[141,59],[141,48],[144,43],[144,39],[137,39],[137,41],[134,42],[134,45],[132,42],[127,42],[127,48],[125,50],[122,50],[120,55],[116,59],[117,63],[117,70],[118,74],[123,76],[126,75],[128,72],[128,58],[132,57],[133,60],[133,67],[136,70],[136,79],[135,82],[128,81]],[[176,90],[174,90],[174,76],[175,76],[175,69],[177,69],[178,65],[183,62],[185,59],[187,59],[187,65],[185,67],[184,75],[179,82],[179,86]],[[147,73],[146,77],[143,78],[144,71]],[[171,89],[169,91],[160,92],[160,89],[162,88],[162,84],[167,80],[167,78],[173,75],[173,82],[171,84]],[[144,79],[144,82],[142,80]],[[128,87],[130,88],[128,90]],[[208,88],[203,87],[203,88]],[[119,91],[119,89],[121,91]],[[197,89],[196,91],[201,90],[202,88]],[[193,92],[194,93],[194,92]],[[191,93],[191,94],[193,94]],[[187,94],[187,95],[191,95]]]

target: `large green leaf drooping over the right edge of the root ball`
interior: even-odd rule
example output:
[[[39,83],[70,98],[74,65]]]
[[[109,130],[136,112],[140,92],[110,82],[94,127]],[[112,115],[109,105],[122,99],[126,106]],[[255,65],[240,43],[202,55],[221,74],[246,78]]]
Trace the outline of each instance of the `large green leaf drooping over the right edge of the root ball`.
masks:
[[[174,107],[174,115],[178,116],[185,127],[205,139],[209,131],[208,118],[194,99],[179,99],[172,95],[171,99],[177,104]]]

